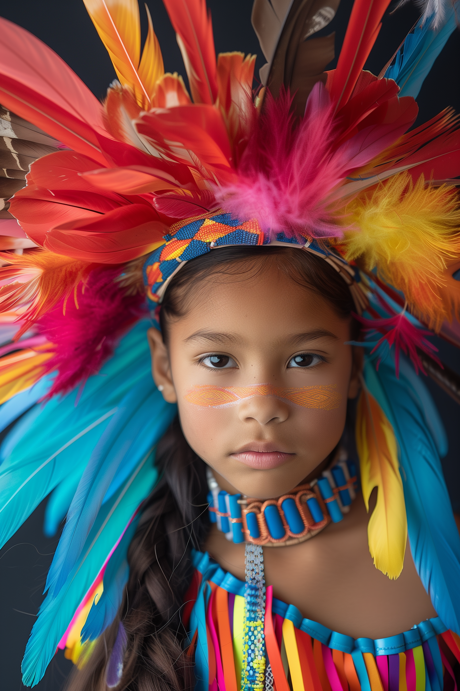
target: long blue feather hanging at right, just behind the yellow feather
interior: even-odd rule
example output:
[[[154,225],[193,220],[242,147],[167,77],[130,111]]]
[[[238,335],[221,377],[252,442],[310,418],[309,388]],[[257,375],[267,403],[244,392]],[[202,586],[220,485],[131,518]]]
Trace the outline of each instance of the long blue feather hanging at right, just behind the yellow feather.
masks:
[[[423,384],[420,381],[414,388],[407,368],[410,364],[406,362],[397,379],[388,359],[380,363],[378,372],[368,360],[366,384],[397,437],[408,536],[417,573],[443,623],[460,634],[460,537],[426,418],[426,403],[419,397]],[[424,398],[429,398],[428,392]]]

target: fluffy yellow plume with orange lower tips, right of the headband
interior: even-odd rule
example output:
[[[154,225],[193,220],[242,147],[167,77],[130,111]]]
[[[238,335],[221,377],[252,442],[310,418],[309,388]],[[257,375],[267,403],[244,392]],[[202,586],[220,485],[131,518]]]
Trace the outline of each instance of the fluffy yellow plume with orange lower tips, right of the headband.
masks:
[[[346,207],[341,241],[348,260],[377,273],[406,296],[410,308],[439,330],[458,314],[457,304],[443,300],[446,263],[460,257],[460,208],[455,189],[416,184],[407,172],[382,182]]]

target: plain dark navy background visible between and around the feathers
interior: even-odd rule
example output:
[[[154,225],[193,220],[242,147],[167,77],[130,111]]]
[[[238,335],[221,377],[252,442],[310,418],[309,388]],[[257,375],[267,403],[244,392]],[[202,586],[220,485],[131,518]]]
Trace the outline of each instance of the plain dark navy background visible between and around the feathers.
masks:
[[[145,38],[147,22],[143,3],[139,4]],[[166,71],[177,71],[186,77],[174,31],[161,0],[148,0],[147,4],[163,51]],[[227,50],[257,53],[258,75],[259,67],[265,60],[261,57],[257,37],[250,25],[252,0],[208,0],[208,6],[212,12],[217,53]],[[336,55],[343,41],[351,6],[351,0],[342,0],[336,17],[323,30],[325,33],[336,30]],[[39,37],[70,65],[98,98],[105,95],[115,73],[83,1],[0,0],[0,16],[14,21]],[[418,10],[410,4],[394,15],[387,12],[372,57],[366,64],[367,69],[374,74],[380,72],[418,16]],[[457,31],[450,37],[423,84],[417,99],[420,106],[419,122],[425,122],[446,106],[454,106],[460,112],[459,64],[460,36]],[[334,66],[331,63],[329,68]],[[439,347],[441,358],[460,372],[457,350],[439,339],[434,341]],[[443,466],[452,504],[460,512],[460,406],[429,379],[427,383],[448,431],[450,450],[443,460]],[[45,503],[41,504],[0,551],[1,691],[19,691],[24,688],[21,683],[21,658],[41,603],[46,571],[57,545],[57,538],[49,540],[41,532]],[[64,659],[60,652],[52,661],[44,679],[37,685],[37,691],[59,691],[70,668],[72,663]]]

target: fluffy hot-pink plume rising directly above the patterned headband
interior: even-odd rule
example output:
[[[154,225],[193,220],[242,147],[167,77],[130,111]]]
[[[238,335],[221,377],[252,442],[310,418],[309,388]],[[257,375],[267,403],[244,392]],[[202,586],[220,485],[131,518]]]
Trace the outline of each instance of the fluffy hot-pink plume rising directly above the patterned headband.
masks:
[[[214,189],[225,211],[241,219],[257,218],[264,232],[287,236],[337,237],[337,205],[328,195],[351,171],[368,163],[406,129],[371,126],[334,147],[334,108],[328,91],[317,82],[297,123],[292,99],[268,95],[264,112],[243,154],[239,180]]]

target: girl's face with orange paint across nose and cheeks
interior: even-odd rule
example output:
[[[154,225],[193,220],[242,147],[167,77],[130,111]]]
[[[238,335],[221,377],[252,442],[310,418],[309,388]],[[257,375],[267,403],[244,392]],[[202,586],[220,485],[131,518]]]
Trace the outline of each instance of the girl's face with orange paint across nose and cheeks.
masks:
[[[211,276],[168,331],[168,350],[149,332],[155,383],[223,489],[279,496],[339,442],[359,388],[350,319],[314,292],[275,267]]]

